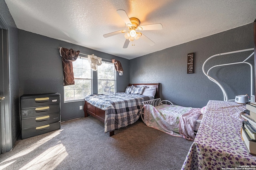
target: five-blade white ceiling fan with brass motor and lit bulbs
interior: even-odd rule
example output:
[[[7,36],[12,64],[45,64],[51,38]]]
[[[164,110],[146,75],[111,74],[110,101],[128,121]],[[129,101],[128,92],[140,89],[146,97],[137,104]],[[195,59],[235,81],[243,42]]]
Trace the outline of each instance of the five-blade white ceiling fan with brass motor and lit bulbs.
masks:
[[[153,46],[155,44],[151,39],[149,39],[139,31],[163,29],[161,23],[140,26],[140,20],[138,18],[129,18],[124,10],[117,10],[117,13],[126,23],[126,27],[128,28],[128,30],[122,29],[112,33],[104,34],[103,37],[107,38],[120,33],[125,33],[124,37],[126,38],[126,41],[124,42],[124,49],[128,47],[130,41],[137,40],[140,37],[150,46]]]

